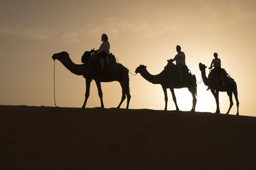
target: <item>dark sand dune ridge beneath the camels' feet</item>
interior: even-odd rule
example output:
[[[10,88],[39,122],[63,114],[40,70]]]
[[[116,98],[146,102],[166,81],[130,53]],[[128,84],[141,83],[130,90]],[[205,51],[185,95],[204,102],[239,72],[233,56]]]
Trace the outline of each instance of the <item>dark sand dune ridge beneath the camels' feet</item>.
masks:
[[[0,106],[0,169],[256,169],[256,118]]]

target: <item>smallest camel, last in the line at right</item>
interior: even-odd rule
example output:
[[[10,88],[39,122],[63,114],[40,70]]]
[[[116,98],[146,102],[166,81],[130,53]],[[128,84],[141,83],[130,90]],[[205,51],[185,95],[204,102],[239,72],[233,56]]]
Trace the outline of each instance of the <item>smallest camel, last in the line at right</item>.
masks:
[[[220,104],[219,104],[219,92],[227,92],[228,97],[229,97],[229,101],[230,101],[230,106],[228,108],[228,111],[226,114],[229,113],[229,111],[231,110],[232,106],[233,106],[233,99],[232,99],[232,94],[234,94],[235,98],[236,98],[236,105],[237,105],[237,113],[236,115],[239,115],[239,101],[238,101],[238,97],[237,97],[237,85],[236,85],[236,81],[234,81],[233,78],[230,77],[226,77],[224,78],[225,81],[225,86],[221,85],[220,80],[218,80],[217,78],[208,78],[205,75],[205,68],[207,66],[205,66],[204,64],[202,64],[201,62],[199,63],[199,69],[202,73],[202,78],[204,81],[204,84],[206,86],[209,87],[209,89],[211,89],[212,95],[215,98],[216,101],[216,105],[217,105],[217,109],[216,109],[216,113],[220,113]]]

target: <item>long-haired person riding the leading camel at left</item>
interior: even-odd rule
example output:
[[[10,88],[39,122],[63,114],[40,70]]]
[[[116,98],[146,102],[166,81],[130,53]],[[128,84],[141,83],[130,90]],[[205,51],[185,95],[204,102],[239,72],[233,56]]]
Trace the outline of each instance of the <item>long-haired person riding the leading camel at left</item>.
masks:
[[[100,72],[102,73],[104,71],[104,58],[106,57],[107,62],[109,63],[108,59],[108,54],[109,54],[109,41],[108,41],[108,36],[106,34],[102,34],[101,36],[101,41],[103,43],[100,45],[100,48],[98,50],[91,50],[91,52],[95,52],[97,57],[99,58],[100,61]]]

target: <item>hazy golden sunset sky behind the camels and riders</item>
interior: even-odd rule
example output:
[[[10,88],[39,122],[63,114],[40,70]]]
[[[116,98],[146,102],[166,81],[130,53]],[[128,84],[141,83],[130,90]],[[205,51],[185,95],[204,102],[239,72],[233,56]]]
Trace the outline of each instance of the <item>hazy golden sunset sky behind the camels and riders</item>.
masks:
[[[81,64],[84,51],[99,48],[108,34],[110,51],[132,73],[140,64],[158,74],[166,60],[176,55],[176,45],[186,54],[186,64],[198,81],[196,111],[214,113],[210,90],[199,83],[199,62],[208,67],[217,52],[237,83],[241,115],[256,116],[255,44],[256,1],[0,1],[0,104],[54,106],[52,54],[66,51]],[[208,69],[207,69],[208,74]],[[131,109],[164,109],[161,85],[140,74],[130,77]],[[56,61],[56,104],[81,107],[83,76],[70,73]],[[104,105],[115,108],[122,97],[117,81],[102,83]],[[188,89],[175,89],[182,111],[192,107]],[[168,90],[168,110],[175,110]],[[230,114],[236,114],[236,101]],[[86,107],[100,106],[92,81]],[[126,100],[121,108],[125,108]],[[229,106],[227,93],[220,93],[220,111]]]

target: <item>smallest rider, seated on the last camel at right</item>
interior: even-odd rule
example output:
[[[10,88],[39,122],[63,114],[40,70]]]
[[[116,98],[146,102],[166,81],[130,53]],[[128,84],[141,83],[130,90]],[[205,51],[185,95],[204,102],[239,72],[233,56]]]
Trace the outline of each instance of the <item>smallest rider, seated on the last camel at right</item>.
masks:
[[[213,54],[214,59],[212,59],[211,66],[209,69],[212,69],[212,66],[214,66],[214,69],[212,69],[211,74],[212,76],[220,76],[222,85],[225,86],[224,78],[223,76],[227,76],[227,73],[224,69],[221,69],[221,60],[218,58],[218,53]],[[224,75],[223,75],[224,74]],[[209,89],[207,89],[209,90]]]

